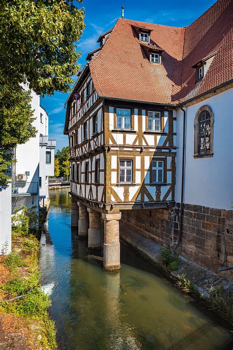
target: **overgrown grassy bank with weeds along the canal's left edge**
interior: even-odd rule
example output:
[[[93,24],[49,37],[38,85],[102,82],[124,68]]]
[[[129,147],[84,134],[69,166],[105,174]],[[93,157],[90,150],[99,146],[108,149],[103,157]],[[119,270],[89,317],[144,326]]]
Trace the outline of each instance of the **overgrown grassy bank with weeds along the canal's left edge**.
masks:
[[[31,341],[36,341],[38,348],[56,349],[55,323],[48,315],[51,301],[39,284],[36,220],[35,213],[27,208],[13,217],[12,253],[1,261],[9,276],[0,287],[0,314],[23,319]],[[30,327],[32,324],[34,327]]]

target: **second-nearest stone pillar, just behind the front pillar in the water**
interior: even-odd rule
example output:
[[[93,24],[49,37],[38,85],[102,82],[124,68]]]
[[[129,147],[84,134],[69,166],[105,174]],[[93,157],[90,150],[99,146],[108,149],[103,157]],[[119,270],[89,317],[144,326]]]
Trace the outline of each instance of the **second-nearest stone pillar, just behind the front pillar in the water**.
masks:
[[[88,228],[88,249],[101,248],[101,226],[100,213],[91,208],[87,208],[89,213],[89,228]]]

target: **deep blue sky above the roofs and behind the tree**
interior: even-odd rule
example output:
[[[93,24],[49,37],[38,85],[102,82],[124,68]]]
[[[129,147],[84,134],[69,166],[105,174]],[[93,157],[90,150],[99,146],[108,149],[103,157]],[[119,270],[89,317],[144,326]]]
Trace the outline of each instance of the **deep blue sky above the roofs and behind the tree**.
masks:
[[[96,43],[99,35],[111,29],[121,17],[121,6],[124,5],[124,17],[136,21],[183,27],[191,24],[214,0],[83,0],[78,7],[85,8],[86,28],[77,44],[77,51],[82,53],[79,59],[81,68],[85,65],[88,52],[99,46]],[[49,138],[57,140],[57,150],[68,145],[68,137],[63,135],[65,119],[64,102],[68,94],[55,92],[53,96],[41,99],[41,105],[49,114]]]

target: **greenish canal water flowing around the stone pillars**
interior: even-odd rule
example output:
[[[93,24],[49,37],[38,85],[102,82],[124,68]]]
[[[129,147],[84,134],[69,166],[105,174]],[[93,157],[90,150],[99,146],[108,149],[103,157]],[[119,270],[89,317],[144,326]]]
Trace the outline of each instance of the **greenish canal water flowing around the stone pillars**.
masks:
[[[231,333],[121,244],[121,270],[104,272],[70,229],[68,190],[51,191],[40,244],[60,349],[232,349]]]

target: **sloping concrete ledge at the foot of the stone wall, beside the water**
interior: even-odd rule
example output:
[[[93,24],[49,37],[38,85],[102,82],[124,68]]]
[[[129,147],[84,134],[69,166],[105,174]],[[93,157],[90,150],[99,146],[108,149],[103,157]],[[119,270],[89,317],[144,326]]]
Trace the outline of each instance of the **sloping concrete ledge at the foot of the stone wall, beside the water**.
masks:
[[[120,223],[120,237],[143,255],[148,261],[155,264],[159,269],[163,270],[160,248],[164,248],[155,243],[150,238],[144,237],[125,223]],[[171,278],[175,279],[177,275],[185,274],[192,285],[197,287],[201,296],[209,297],[211,288],[223,285],[226,292],[233,292],[233,281],[226,276],[219,276],[212,271],[192,262],[179,255],[180,263],[177,271],[171,272]]]

